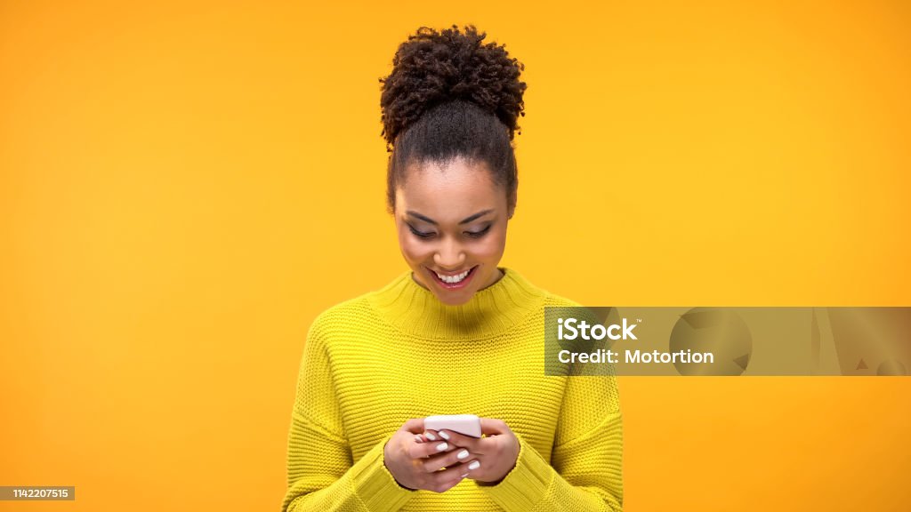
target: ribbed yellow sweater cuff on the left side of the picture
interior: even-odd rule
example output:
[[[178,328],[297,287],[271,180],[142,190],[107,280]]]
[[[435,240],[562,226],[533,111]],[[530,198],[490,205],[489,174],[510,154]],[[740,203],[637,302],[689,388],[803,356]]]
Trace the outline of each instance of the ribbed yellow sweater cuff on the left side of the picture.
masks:
[[[417,491],[406,489],[383,463],[383,451],[389,437],[377,443],[352,467],[354,493],[371,512],[394,512],[415,496]]]

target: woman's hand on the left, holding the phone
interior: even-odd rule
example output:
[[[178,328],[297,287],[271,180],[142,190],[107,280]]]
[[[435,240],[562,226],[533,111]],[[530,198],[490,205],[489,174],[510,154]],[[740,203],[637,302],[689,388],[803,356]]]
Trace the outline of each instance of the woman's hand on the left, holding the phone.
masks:
[[[418,442],[416,435],[423,432],[424,418],[404,422],[386,442],[383,463],[400,486],[445,492],[461,482],[466,473],[458,458],[460,450],[442,439]]]

